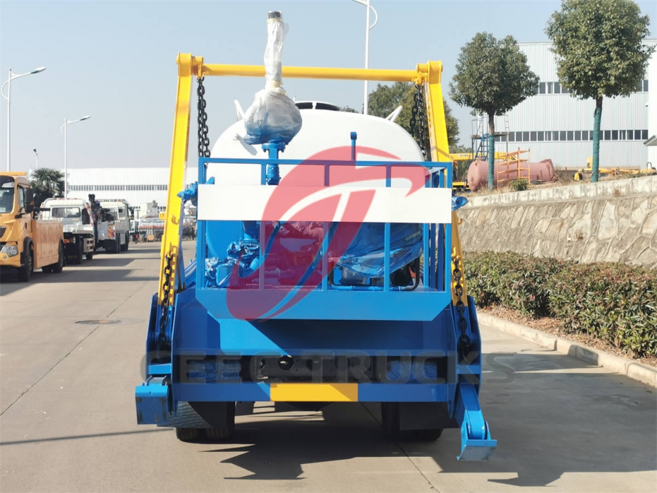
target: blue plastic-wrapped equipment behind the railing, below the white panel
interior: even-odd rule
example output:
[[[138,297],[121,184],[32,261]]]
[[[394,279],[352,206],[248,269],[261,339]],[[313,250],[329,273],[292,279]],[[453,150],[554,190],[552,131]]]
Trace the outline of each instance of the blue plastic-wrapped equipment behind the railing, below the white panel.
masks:
[[[260,241],[257,221],[243,223],[242,238],[228,245],[226,257],[206,260],[206,287],[256,288],[260,267]],[[333,236],[329,262],[339,271],[334,275],[341,286],[380,289],[384,275],[384,224],[356,225],[358,232],[337,232]],[[402,270],[422,253],[420,224],[392,224],[390,227],[390,272]],[[340,238],[343,237],[343,238]],[[321,283],[321,223],[265,223],[265,284],[305,287]],[[346,244],[344,242],[347,242]],[[341,244],[343,246],[341,246]],[[339,280],[338,280],[339,277]],[[396,285],[396,284],[395,284]],[[407,284],[401,283],[402,287]],[[338,289],[338,288],[336,288]]]

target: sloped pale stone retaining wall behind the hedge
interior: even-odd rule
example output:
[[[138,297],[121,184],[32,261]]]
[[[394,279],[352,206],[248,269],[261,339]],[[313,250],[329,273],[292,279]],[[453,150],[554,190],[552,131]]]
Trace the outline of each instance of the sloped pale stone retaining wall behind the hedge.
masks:
[[[657,268],[657,176],[469,200],[459,211],[465,251]]]

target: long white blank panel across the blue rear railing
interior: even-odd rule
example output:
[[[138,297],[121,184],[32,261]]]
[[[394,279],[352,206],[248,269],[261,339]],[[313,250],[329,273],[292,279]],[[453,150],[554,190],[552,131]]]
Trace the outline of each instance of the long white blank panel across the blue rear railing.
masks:
[[[200,185],[199,219],[205,221],[343,221],[350,194],[375,192],[365,218],[366,223],[449,223],[451,190],[421,188],[412,194],[404,188],[380,187],[289,187],[304,197],[287,211],[267,211],[272,194],[279,187],[260,185]],[[321,199],[340,196],[336,211],[308,209]],[[305,208],[305,209],[304,209]]]

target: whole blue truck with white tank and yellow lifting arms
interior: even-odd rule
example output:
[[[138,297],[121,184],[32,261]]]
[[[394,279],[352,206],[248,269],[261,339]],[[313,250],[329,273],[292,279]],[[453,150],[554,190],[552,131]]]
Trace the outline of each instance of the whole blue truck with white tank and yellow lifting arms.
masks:
[[[173,427],[185,442],[226,441],[236,402],[380,403],[390,439],[434,441],[458,428],[458,458],[486,460],[497,441],[479,404],[481,337],[463,275],[456,209],[465,199],[452,196],[441,62],[285,67],[284,26],[280,12],[269,13],[265,67],[177,57],[160,283],[137,421]],[[211,148],[205,84],[228,76],[265,76],[266,85]],[[294,103],[283,77],[412,82],[419,144],[394,113]],[[192,103],[199,182],[183,189]],[[197,240],[186,263],[188,200]]]

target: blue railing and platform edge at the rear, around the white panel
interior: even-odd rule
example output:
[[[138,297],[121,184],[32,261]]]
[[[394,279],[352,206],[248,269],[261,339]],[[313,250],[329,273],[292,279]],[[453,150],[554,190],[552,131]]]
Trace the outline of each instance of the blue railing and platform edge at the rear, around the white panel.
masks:
[[[331,166],[381,166],[386,167],[386,186],[391,186],[392,167],[421,166],[429,170],[431,179],[426,181],[425,187],[446,188],[452,187],[451,162],[395,162],[395,161],[356,161],[356,160],[282,160],[282,159],[232,159],[199,157],[199,184],[207,182],[207,165],[239,164],[260,166],[260,184],[265,185],[267,166],[271,165],[321,165],[324,166],[325,186],[328,186],[328,170]],[[197,238],[206,238],[207,223],[197,221]],[[237,225],[239,221],[212,221]],[[324,231],[328,231],[329,223],[324,223]],[[260,235],[263,237],[263,234]],[[327,235],[324,235],[324,248],[326,251]],[[390,286],[390,223],[385,223],[384,238],[384,284],[382,289],[362,290],[336,289],[328,284],[328,265],[322,262],[322,283],[315,289],[309,289],[306,296],[293,306],[280,314],[272,314],[267,318],[285,318],[294,320],[396,320],[396,321],[431,321],[451,301],[449,272],[451,265],[446,259],[451,259],[451,223],[423,225],[423,257],[424,270],[421,278],[421,287],[414,290],[413,302],[409,304],[409,293],[401,292],[399,288]],[[442,244],[442,247],[440,248]],[[265,249],[260,248],[260,265],[264,265]],[[436,253],[436,250],[438,252]],[[196,272],[197,299],[208,309],[214,318],[230,318],[232,315],[226,305],[227,290],[230,288],[205,287],[205,265],[209,257],[209,247],[206,241],[197,241],[197,265],[201,268]],[[451,260],[448,260],[451,262]],[[428,282],[427,282],[428,281]],[[301,288],[308,289],[308,288]],[[236,289],[231,296],[240,299],[240,303],[248,304],[250,297],[275,296],[264,287],[263,278],[260,277],[260,289]],[[291,289],[289,296],[298,292],[299,288]],[[341,306],[336,314],[335,307]]]

